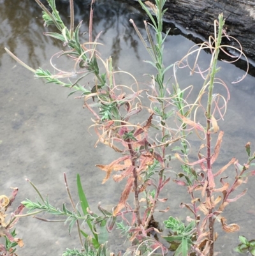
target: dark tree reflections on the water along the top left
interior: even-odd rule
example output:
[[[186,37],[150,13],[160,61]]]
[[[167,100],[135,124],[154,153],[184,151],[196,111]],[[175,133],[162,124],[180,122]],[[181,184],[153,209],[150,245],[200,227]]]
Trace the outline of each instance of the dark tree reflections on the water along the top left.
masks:
[[[46,2],[46,1],[45,1]],[[75,24],[83,20],[83,25],[80,29],[82,33],[87,32],[89,26],[89,11],[91,1],[75,1]],[[47,3],[44,3],[47,6]],[[69,1],[56,1],[59,13],[64,24],[69,25]],[[22,43],[22,51],[27,51],[29,61],[27,64],[38,67],[41,54],[45,59],[45,44],[49,40],[54,41],[54,45],[61,48],[61,42],[43,36],[43,32],[52,31],[52,27],[45,28],[42,26],[41,9],[34,1],[4,1],[0,8],[1,24],[0,27],[0,60],[3,56],[4,47],[7,47],[15,55],[19,55],[18,43]],[[114,58],[114,66],[118,66],[119,55],[122,47],[120,39],[133,48],[136,57],[139,59],[137,50],[136,33],[131,26],[129,19],[132,17],[136,21],[136,26],[143,27],[143,20],[138,19],[138,11],[135,8],[129,7],[128,4],[117,4],[115,1],[97,1],[94,8],[93,21],[93,38],[101,31],[101,38],[108,31],[112,31],[111,38],[108,40],[102,39],[103,43],[110,45],[112,41],[112,55]],[[87,34],[84,36],[84,41],[87,40]]]

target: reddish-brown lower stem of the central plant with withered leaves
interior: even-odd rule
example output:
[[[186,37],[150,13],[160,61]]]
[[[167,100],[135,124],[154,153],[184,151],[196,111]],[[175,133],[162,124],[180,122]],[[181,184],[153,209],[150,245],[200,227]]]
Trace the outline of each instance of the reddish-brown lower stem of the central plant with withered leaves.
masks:
[[[136,166],[135,152],[132,147],[131,139],[127,139],[129,153],[131,154],[131,162],[133,166]],[[135,213],[137,218],[137,224],[140,226],[142,224],[141,215],[140,215],[140,203],[139,203],[139,190],[138,190],[138,176],[136,172],[136,167],[133,169],[134,177],[134,192],[135,192]]]

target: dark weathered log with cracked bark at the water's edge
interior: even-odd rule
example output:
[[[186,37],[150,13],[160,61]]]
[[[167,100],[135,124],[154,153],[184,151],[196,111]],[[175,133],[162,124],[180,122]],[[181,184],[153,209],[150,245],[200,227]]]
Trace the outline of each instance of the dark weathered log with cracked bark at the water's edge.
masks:
[[[247,57],[255,61],[254,0],[167,0],[166,18],[203,38],[214,34],[214,20],[223,13],[226,32],[240,41]],[[236,41],[224,40],[238,47]]]

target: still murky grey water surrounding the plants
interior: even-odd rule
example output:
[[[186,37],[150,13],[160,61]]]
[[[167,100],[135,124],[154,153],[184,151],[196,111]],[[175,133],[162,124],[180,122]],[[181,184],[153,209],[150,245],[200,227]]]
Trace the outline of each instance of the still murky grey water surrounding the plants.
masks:
[[[68,17],[68,1],[57,1],[57,6],[60,13]],[[89,1],[76,1],[76,24],[84,20],[82,32],[88,30],[89,8]],[[105,45],[100,48],[102,57],[112,56],[115,68],[131,72],[141,81],[144,80],[143,73],[153,70],[142,63],[149,56],[129,19],[135,20],[136,26],[143,29],[143,17],[135,8],[117,1],[97,1],[93,33],[96,36],[103,31],[99,40]],[[34,199],[33,188],[25,182],[25,178],[29,178],[43,195],[49,195],[52,204],[61,206],[68,202],[63,172],[68,176],[74,196],[76,174],[80,173],[91,208],[96,209],[98,200],[108,207],[113,206],[119,200],[119,188],[113,181],[101,184],[105,174],[94,166],[109,163],[114,156],[103,146],[94,149],[96,137],[87,133],[91,116],[82,109],[82,100],[67,99],[68,89],[34,80],[32,73],[15,63],[4,51],[7,47],[33,68],[49,68],[48,59],[61,49],[61,43],[43,36],[45,28],[40,8],[33,0],[0,0],[0,23],[0,194],[8,195],[10,187],[17,186],[20,189],[17,202],[25,197]],[[145,36],[144,30],[142,34]],[[85,38],[87,34],[84,34]],[[166,64],[181,59],[193,45],[182,36],[168,36],[164,49]],[[203,53],[203,61],[209,60],[210,55]],[[255,144],[255,79],[247,75],[244,81],[232,85],[231,82],[242,77],[244,72],[231,64],[219,64],[222,66],[221,78],[228,84],[231,94],[228,113],[224,123],[220,124],[222,130],[228,132],[219,164],[228,162],[233,156],[243,163],[246,160],[245,143],[251,141]],[[178,70],[177,75],[182,86],[192,83],[195,89],[199,89],[201,80],[190,77],[189,72],[181,72]],[[245,197],[226,209],[228,222],[237,222],[241,229],[228,236],[222,234],[224,239],[217,241],[216,248],[223,255],[232,253],[231,249],[238,244],[238,235],[245,234],[249,239],[255,237],[254,185],[255,180],[251,178],[243,186],[249,188]],[[189,214],[179,211],[179,200],[173,200],[177,196],[187,200],[184,195],[183,188],[175,184],[170,186],[171,215]],[[19,255],[62,255],[64,248],[79,246],[75,231],[70,237],[68,228],[62,223],[25,218],[18,223],[17,231],[25,243]],[[111,239],[114,244],[115,238]],[[115,243],[116,248],[121,248],[119,239]]]

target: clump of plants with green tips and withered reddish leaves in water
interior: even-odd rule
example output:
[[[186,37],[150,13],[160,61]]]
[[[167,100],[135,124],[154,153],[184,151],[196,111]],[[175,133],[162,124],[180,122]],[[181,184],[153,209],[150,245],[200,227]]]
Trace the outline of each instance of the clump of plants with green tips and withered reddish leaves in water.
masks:
[[[144,21],[148,40],[143,38],[135,22],[130,22],[149,53],[150,60],[145,63],[155,68],[155,72],[147,76],[149,82],[144,85],[144,81],[142,84],[131,73],[114,70],[111,57],[106,61],[100,57],[97,50],[97,46],[101,45],[100,33],[96,38],[92,38],[94,0],[91,2],[87,42],[80,41],[82,22],[75,27],[73,0],[70,0],[69,28],[62,22],[54,0],[47,0],[50,10],[40,0],[35,1],[43,9],[45,26],[55,26],[59,31],[45,33],[46,36],[62,41],[62,51],[53,57],[68,57],[69,63],[74,63],[73,72],[57,70],[54,66],[52,67],[55,72],[42,68],[34,70],[10,50],[6,51],[18,63],[33,72],[36,79],[68,87],[72,90],[68,96],[77,95],[75,98],[84,100],[84,109],[92,115],[90,128],[98,135],[96,145],[102,143],[119,154],[107,165],[96,165],[106,174],[103,183],[112,177],[115,182],[124,181],[121,183],[124,186],[119,192],[119,202],[116,202],[116,206],[113,209],[105,209],[99,203],[98,215],[89,207],[79,175],[77,188],[80,202],[77,203],[73,200],[64,174],[72,209],[68,209],[66,204],[61,208],[52,206],[50,199],[43,197],[36,185],[29,181],[38,198],[36,201],[24,200],[21,207],[28,209],[27,213],[18,211],[13,213],[11,218],[18,220],[21,217],[36,215],[36,218],[46,222],[67,223],[69,232],[76,226],[80,249],[67,249],[62,254],[64,256],[114,255],[108,249],[107,232],[119,232],[118,230],[126,236],[126,243],[129,245],[124,255],[165,255],[169,250],[173,251],[175,256],[216,255],[214,245],[219,235],[215,232],[215,225],[221,225],[225,232],[235,232],[239,229],[237,223],[227,222],[224,210],[228,204],[245,195],[247,190],[239,194],[233,192],[243,183],[247,183],[249,176],[255,174],[254,170],[249,171],[255,158],[255,153],[251,153],[250,142],[245,145],[248,157],[244,165],[232,158],[226,165],[215,167],[221,154],[224,135],[219,129],[219,123],[223,120],[230,100],[228,86],[217,77],[217,72],[220,71],[217,59],[220,51],[236,61],[242,55],[242,50],[236,49],[240,56],[232,56],[226,51],[227,46],[221,45],[223,37],[229,38],[224,31],[222,14],[219,15],[219,20],[215,20],[215,34],[210,36],[208,42],[189,50],[178,63],[164,66],[163,47],[168,34],[163,33],[166,0],[156,0],[156,5],[152,6],[153,13],[138,0],[150,19],[150,22]],[[199,64],[202,50],[212,54],[207,67],[201,67]],[[195,56],[193,61],[192,56]],[[200,75],[201,89],[197,95],[193,95],[193,86],[184,89],[179,86],[175,73],[177,66],[189,68],[191,75]],[[173,81],[168,75],[171,69],[174,73]],[[70,82],[68,78],[72,77],[73,73],[78,78],[75,82]],[[118,84],[117,80],[121,75],[129,75],[133,82]],[[85,86],[85,80],[91,81],[91,88]],[[225,89],[226,96],[219,93],[222,91],[219,87]],[[190,100],[191,95],[194,100]],[[197,121],[198,117],[200,122]],[[193,140],[190,139],[194,135],[201,140],[196,156],[191,153],[191,149],[195,150]],[[235,170],[229,180],[224,176],[228,168]],[[171,179],[174,183],[186,187],[190,197],[190,202],[180,202],[181,207],[190,211],[186,220],[171,216],[171,194],[167,195],[170,200],[165,197],[166,188],[171,186]],[[14,240],[15,231],[9,233],[10,225],[3,222],[8,206],[3,202],[1,199],[1,236],[6,237],[7,242],[1,245],[0,252],[3,252],[2,255],[13,255],[12,247],[18,243]],[[164,209],[161,209],[162,205]],[[60,219],[47,220],[38,216],[43,212],[59,216]],[[168,236],[163,236],[162,230],[156,225],[156,212],[161,212],[164,216],[164,229],[168,231]],[[242,245],[238,246],[238,252],[250,250],[253,253],[253,241],[248,242],[243,237],[240,241]]]

